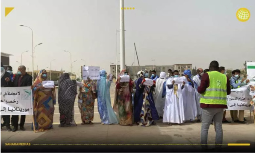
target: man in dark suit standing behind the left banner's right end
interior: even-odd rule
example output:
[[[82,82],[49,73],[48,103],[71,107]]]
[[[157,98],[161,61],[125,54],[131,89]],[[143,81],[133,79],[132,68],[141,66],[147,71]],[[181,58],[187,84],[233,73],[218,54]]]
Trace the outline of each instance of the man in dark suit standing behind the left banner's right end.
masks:
[[[15,76],[12,86],[14,87],[28,87],[32,86],[32,76],[26,73],[26,67],[25,66],[19,66],[18,67],[18,72],[17,75]],[[21,123],[20,123],[20,128],[22,131],[25,131],[24,128],[24,123],[25,123],[26,115],[21,116]],[[18,115],[13,115],[12,116],[12,122],[13,122],[13,132],[18,130],[18,121],[19,121],[19,116]]]

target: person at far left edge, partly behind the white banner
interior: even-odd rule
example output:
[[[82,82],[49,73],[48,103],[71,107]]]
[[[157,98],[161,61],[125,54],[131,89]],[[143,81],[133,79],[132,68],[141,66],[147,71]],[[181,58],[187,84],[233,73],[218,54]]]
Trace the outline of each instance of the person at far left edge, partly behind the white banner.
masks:
[[[10,74],[5,71],[3,67],[3,63],[1,63],[1,87],[9,87],[12,86],[11,83],[12,81],[9,81],[8,79],[10,78]],[[10,116],[9,115],[4,115],[3,116],[3,124],[1,124],[1,129],[2,127],[6,126],[7,131],[12,131],[10,127]]]

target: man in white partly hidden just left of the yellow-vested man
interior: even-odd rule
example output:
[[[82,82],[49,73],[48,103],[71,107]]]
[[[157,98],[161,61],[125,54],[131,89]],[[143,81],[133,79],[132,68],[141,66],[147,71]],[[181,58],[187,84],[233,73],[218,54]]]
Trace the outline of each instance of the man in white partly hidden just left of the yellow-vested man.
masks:
[[[195,90],[195,94],[196,94],[196,103],[197,103],[197,122],[198,123],[201,122],[202,108],[200,107],[200,97],[201,97],[201,94],[199,94],[197,92],[197,88],[201,84],[202,75],[203,75],[203,69],[202,68],[198,68],[197,69],[197,75],[193,77],[194,90]]]

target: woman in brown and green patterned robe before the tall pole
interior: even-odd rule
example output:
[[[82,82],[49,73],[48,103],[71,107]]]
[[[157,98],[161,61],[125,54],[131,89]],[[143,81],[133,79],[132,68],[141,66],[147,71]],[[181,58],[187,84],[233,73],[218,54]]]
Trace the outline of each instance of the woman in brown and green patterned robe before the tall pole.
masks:
[[[128,75],[127,70],[121,71],[118,75],[115,88],[114,111],[120,118],[120,125],[132,126],[132,80],[120,82],[121,75]]]

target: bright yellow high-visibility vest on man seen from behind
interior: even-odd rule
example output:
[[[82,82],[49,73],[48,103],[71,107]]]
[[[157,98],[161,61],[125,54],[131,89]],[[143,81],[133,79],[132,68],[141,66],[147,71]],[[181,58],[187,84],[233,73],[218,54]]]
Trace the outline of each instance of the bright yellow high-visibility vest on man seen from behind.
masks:
[[[200,98],[200,103],[227,105],[227,76],[218,71],[209,71],[210,84]]]

